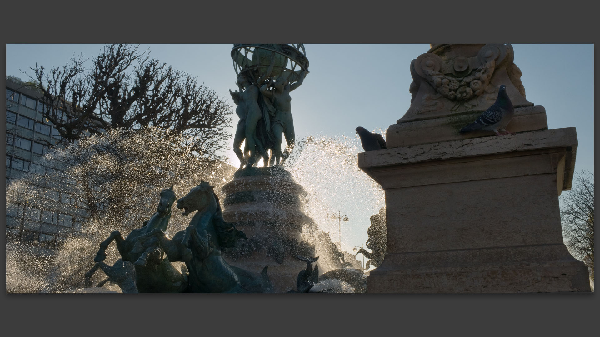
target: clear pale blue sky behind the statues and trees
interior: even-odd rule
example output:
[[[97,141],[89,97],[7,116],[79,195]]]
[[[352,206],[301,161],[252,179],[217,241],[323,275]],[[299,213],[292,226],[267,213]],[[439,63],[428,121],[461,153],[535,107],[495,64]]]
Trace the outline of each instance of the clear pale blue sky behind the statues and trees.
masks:
[[[73,56],[92,58],[103,44],[7,44],[7,75],[27,80],[29,67],[64,65]],[[523,76],[527,100],[544,106],[548,128],[577,128],[575,170],[593,173],[593,44],[512,44],[514,62]],[[150,56],[173,68],[187,71],[208,88],[226,98],[237,86],[230,58],[232,44],[140,44]],[[305,44],[310,74],[292,92],[292,115],[296,139],[334,137],[358,144],[355,128],[382,133],[410,107],[410,62],[427,53],[429,44]],[[91,65],[91,62],[88,61]],[[238,122],[232,113],[232,128]],[[233,142],[233,137],[230,142]],[[362,150],[361,150],[362,151]],[[230,163],[238,166],[233,151]],[[331,209],[344,207],[342,199]],[[344,213],[344,210],[341,210]],[[337,213],[337,212],[336,212]],[[367,240],[368,217],[347,212],[351,226],[343,234],[344,250]],[[352,219],[355,219],[352,221]],[[334,227],[337,230],[337,221]],[[349,222],[349,223],[350,223]],[[346,243],[346,241],[348,243]],[[335,242],[335,239],[334,239]]]

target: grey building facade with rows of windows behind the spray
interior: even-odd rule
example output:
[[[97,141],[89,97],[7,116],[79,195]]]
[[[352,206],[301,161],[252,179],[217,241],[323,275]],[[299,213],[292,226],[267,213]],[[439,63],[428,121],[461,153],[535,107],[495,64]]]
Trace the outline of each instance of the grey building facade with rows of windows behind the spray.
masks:
[[[7,242],[53,249],[64,243],[73,231],[81,229],[87,213],[85,203],[76,192],[77,182],[65,179],[60,167],[39,163],[41,157],[61,140],[52,123],[43,118],[44,106],[40,98],[41,94],[31,87],[7,79],[7,192],[16,179],[37,174],[37,179],[29,179],[34,183],[18,188],[26,189],[21,192],[35,195],[43,202],[7,202],[6,231]]]

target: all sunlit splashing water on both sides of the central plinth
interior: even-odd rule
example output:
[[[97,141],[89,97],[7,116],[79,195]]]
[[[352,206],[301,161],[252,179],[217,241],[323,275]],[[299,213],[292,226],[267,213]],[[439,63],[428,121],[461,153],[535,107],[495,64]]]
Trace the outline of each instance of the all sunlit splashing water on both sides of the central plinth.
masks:
[[[32,246],[22,234],[7,235],[7,292],[82,292],[100,242],[113,230],[126,236],[142,227],[155,212],[158,193],[170,185],[180,198],[201,179],[207,180],[223,200],[221,187],[232,180],[236,167],[191,155],[182,143],[178,135],[157,128],[135,133],[113,130],[55,149],[32,164],[28,173],[11,180],[7,222],[8,215],[19,212],[21,222],[7,224],[7,234],[41,230],[47,233],[42,235],[55,237],[55,247],[44,247],[41,237]],[[341,210],[350,218],[342,224],[341,250],[351,251],[367,240],[369,217],[385,204],[380,186],[356,166],[358,152],[358,139],[309,137],[296,145],[286,163],[286,170],[307,192],[304,212],[314,224],[304,226],[302,239],[316,245],[321,273],[339,265],[328,254],[337,247],[325,244],[339,239],[338,221],[331,214]],[[57,224],[52,216],[46,219],[47,212],[71,216],[72,222]],[[173,236],[189,221],[173,208],[167,234]],[[107,264],[120,257],[114,243],[106,252]],[[104,278],[98,270],[92,284]],[[107,283],[98,290],[103,291],[121,290]]]

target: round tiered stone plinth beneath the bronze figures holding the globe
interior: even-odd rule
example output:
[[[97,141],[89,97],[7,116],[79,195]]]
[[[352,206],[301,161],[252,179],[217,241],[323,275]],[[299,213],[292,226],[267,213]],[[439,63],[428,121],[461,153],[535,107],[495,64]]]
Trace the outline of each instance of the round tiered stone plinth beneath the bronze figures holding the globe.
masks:
[[[302,225],[312,221],[301,210],[302,186],[283,169],[251,167],[236,171],[223,193],[223,218],[248,237],[224,252],[227,261],[254,272],[268,265],[275,293],[295,289],[306,268],[296,254],[314,256],[314,246],[301,240]]]

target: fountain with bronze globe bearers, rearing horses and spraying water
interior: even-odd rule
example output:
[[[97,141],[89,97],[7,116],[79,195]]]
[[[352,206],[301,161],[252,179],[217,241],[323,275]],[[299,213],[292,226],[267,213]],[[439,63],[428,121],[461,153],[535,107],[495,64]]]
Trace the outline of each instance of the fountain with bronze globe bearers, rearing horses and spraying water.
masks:
[[[302,45],[292,47],[296,52],[303,50]],[[298,272],[305,268],[305,262],[298,260],[298,255],[320,256],[321,269],[317,270],[324,272],[328,285],[320,285],[314,291],[331,288],[331,284],[340,285],[339,279],[332,281],[336,277],[355,282],[362,270],[347,269],[350,276],[344,272],[327,274],[331,270],[356,267],[358,260],[344,261],[344,254],[338,251],[329,234],[320,230],[317,221],[307,215],[310,213],[305,202],[308,193],[295,182],[301,176],[298,174],[303,164],[300,158],[307,154],[323,156],[319,154],[323,149],[314,146],[318,142],[312,137],[294,144],[289,104],[286,107],[278,101],[282,92],[289,95],[292,87],[298,88],[308,73],[304,54],[289,48],[288,45],[234,46],[232,56],[235,55],[236,71],[244,74],[246,80],[250,79],[250,84],[244,82],[247,86],[239,87],[237,95],[232,93],[238,96],[236,112],[248,115],[244,105],[247,102],[245,92],[250,86],[259,89],[257,83],[263,81],[260,92],[255,92],[260,98],[263,122],[273,122],[271,130],[280,132],[279,136],[269,138],[268,125],[257,124],[256,134],[251,135],[256,141],[254,151],[248,148],[241,151],[245,156],[242,157],[242,163],[245,163],[242,169],[234,172],[235,169],[226,164],[194,157],[181,145],[182,139],[169,131],[148,129],[127,133],[112,130],[103,136],[82,139],[65,149],[55,149],[29,173],[7,186],[7,204],[25,203],[26,207],[37,207],[42,213],[44,209],[58,211],[60,208],[61,212],[85,210],[89,214],[86,221],[80,219],[74,233],[63,239],[58,250],[40,254],[30,251],[29,246],[22,243],[9,242],[7,291],[285,293],[294,288]],[[247,58],[248,52],[254,50],[256,56]],[[275,55],[277,53],[292,55],[292,58],[286,61]],[[240,59],[239,55],[246,58]],[[258,63],[250,62],[256,60]],[[296,67],[299,70],[295,70]],[[244,76],[238,76],[238,79]],[[277,79],[274,81],[273,77]],[[287,120],[286,114],[290,117]],[[245,138],[247,133],[242,136]],[[286,136],[289,145],[286,151],[277,149],[272,141],[281,140],[282,136]],[[347,167],[352,168],[353,174],[360,173],[355,166],[355,146],[351,145],[349,150],[343,143],[328,140],[320,144],[333,145],[336,153],[348,157],[342,158],[341,162],[350,164]],[[271,150],[272,158],[266,157],[265,149]],[[257,167],[257,157],[263,158],[263,167]],[[288,158],[290,171],[283,167]],[[363,176],[361,179],[365,180]],[[212,203],[216,205],[211,215],[207,218],[199,210],[189,222],[184,216],[170,213],[171,206],[184,209],[186,215],[202,208],[205,201],[197,201],[199,206],[190,206],[182,204],[184,198],[179,198],[178,203],[173,204],[175,199],[171,194],[178,197],[191,194],[194,189],[190,191],[190,188],[195,185],[212,191],[207,194],[214,195]],[[73,201],[68,204],[52,202],[43,186],[68,186]],[[378,186],[375,188],[379,190]],[[164,205],[161,206],[163,201],[158,209],[152,209],[160,199],[158,192],[162,189],[160,196],[169,196],[169,216],[164,213],[167,212]],[[168,226],[167,222],[159,221],[163,218],[170,221]],[[189,224],[194,225],[188,227]],[[217,232],[210,234],[212,224],[217,232],[221,228],[226,235],[233,233],[235,240],[229,244],[221,239],[219,243],[211,241],[217,235]],[[110,244],[112,239],[116,239],[116,245]],[[123,246],[124,242],[129,242],[127,247]],[[209,251],[219,252],[219,257],[213,257],[212,253],[202,255],[206,247]],[[230,286],[216,287],[222,279],[212,285],[206,284],[211,276],[199,274],[196,265],[203,263],[202,259],[212,261],[215,258],[220,262],[211,265],[228,266],[226,268],[232,270],[232,275],[235,274],[228,283]],[[162,275],[158,278],[164,278],[163,282],[155,279],[157,275]],[[211,275],[218,278],[220,274]],[[188,279],[195,281],[190,281],[190,288],[183,290],[181,286]],[[316,281],[319,281],[318,273]],[[84,283],[92,287],[82,288]],[[359,282],[356,287],[362,287],[358,291],[364,291],[363,286]],[[343,292],[353,291],[347,283],[343,287],[346,289]]]

